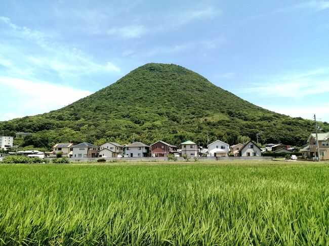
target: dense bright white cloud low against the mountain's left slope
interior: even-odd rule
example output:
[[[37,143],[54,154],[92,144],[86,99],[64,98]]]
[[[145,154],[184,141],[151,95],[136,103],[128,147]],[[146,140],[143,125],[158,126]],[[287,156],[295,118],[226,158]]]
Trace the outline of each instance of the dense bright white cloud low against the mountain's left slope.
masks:
[[[2,97],[8,96],[4,102],[11,102],[11,107],[15,107],[15,113],[0,113],[0,119],[4,120],[56,110],[91,94],[87,90],[12,77],[0,77],[0,86],[3,91],[13,91]]]

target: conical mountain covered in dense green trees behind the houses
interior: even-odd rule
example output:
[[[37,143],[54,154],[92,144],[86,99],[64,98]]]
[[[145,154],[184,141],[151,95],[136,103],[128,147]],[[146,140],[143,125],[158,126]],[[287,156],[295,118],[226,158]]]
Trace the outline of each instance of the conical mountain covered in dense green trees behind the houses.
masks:
[[[181,66],[150,63],[62,109],[0,122],[1,129],[11,135],[33,132],[17,144],[35,147],[105,140],[179,144],[188,139],[207,145],[207,134],[210,141],[234,144],[245,136],[256,139],[259,132],[262,143],[302,145],[313,124],[255,106]]]

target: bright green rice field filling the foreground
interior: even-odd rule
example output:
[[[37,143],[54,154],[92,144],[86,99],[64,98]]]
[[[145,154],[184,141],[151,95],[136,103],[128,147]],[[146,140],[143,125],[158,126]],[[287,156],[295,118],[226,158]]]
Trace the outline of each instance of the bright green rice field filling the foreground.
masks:
[[[1,245],[329,245],[329,165],[0,165]]]

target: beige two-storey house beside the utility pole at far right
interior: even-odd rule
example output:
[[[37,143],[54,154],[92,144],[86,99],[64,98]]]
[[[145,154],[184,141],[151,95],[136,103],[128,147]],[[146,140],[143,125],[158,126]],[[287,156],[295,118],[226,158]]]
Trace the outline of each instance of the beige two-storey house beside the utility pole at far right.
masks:
[[[317,154],[317,144],[316,144],[316,136],[315,133],[310,134],[307,139],[307,143],[310,146],[309,156],[311,159],[315,159],[318,157]],[[320,160],[329,160],[329,132],[326,133],[318,133],[317,139],[319,143],[319,153],[320,153]]]

